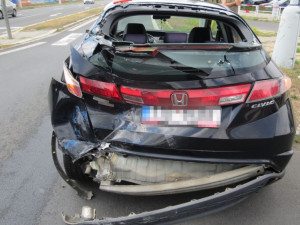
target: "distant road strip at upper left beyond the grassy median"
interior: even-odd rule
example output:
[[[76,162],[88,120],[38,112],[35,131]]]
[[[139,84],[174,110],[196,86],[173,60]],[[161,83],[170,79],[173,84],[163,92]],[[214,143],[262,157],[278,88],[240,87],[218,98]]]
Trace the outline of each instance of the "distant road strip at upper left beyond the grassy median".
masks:
[[[111,0],[96,1],[95,4],[83,4],[83,2],[74,4],[62,4],[52,7],[40,7],[33,9],[18,10],[17,17],[9,15],[9,23],[12,30],[32,25],[41,21],[50,20],[53,18],[67,16],[76,12],[85,11],[88,9],[105,6]],[[0,34],[6,32],[4,20],[0,20]]]

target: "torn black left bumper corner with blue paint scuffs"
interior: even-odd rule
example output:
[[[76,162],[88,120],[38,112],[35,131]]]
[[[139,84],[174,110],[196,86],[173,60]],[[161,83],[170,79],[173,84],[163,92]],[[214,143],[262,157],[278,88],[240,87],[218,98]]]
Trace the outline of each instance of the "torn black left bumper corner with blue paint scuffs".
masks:
[[[65,84],[52,80],[49,102],[54,132],[63,153],[76,160],[100,146],[95,141],[84,102],[70,98]]]

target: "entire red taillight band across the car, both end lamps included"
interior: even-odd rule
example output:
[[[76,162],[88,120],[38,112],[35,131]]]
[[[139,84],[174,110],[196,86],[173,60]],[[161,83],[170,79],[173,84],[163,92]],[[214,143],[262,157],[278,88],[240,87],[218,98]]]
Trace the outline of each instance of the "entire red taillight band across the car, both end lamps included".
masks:
[[[244,103],[251,89],[251,84],[240,84],[226,87],[193,89],[193,90],[155,90],[118,87],[113,83],[80,77],[80,85],[64,65],[64,75],[68,90],[77,97],[84,92],[112,100],[123,101],[140,105],[166,107],[198,107],[198,106],[225,106]],[[80,89],[81,87],[81,89]],[[291,79],[284,76],[281,79],[272,79],[255,82],[248,97],[249,102],[261,101],[283,94],[291,87]]]

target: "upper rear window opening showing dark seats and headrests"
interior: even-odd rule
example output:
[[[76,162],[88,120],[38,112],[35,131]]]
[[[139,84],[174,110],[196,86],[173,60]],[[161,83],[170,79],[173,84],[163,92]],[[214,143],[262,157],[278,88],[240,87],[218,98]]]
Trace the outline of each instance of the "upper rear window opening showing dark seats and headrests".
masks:
[[[134,15],[114,23],[111,36],[118,41],[146,43],[238,43],[242,38],[232,26],[212,19]]]

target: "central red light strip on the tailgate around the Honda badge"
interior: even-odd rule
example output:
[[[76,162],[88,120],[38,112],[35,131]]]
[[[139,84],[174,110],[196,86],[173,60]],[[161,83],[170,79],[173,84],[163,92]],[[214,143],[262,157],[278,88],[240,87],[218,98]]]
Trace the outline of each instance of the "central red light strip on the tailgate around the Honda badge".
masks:
[[[120,92],[127,102],[153,106],[216,106],[242,103],[250,91],[251,84],[197,90],[151,90],[121,87]],[[186,104],[174,104],[172,96],[181,102],[187,96]],[[185,97],[184,97],[185,98]]]

